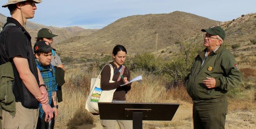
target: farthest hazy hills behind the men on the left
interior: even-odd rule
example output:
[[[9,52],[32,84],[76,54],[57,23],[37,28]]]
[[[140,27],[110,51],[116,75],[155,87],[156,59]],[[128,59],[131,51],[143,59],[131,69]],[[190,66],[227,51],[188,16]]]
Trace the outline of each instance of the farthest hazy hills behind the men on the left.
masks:
[[[6,23],[6,19],[7,17],[0,13],[0,26],[3,26],[4,23]],[[54,38],[54,44],[59,44],[59,43],[61,44],[62,40],[67,40],[73,36],[90,35],[91,33],[94,33],[98,30],[98,29],[83,29],[78,26],[58,28],[58,27],[52,27],[52,26],[33,23],[29,20],[26,23],[26,28],[28,33],[32,37],[32,44],[35,43],[37,32],[41,28],[49,28],[50,30],[52,30],[52,33],[58,35],[57,37]]]

